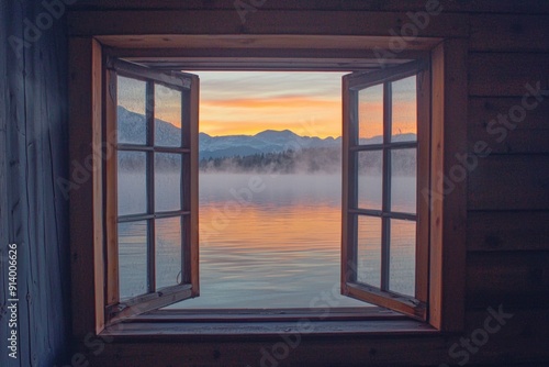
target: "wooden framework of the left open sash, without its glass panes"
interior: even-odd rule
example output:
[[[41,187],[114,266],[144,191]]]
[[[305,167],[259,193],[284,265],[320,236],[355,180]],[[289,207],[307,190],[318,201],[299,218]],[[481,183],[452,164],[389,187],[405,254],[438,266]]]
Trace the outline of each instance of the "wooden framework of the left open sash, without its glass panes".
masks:
[[[116,141],[117,77],[124,76],[146,82],[145,119],[146,143],[119,144]],[[105,320],[114,322],[154,309],[199,296],[198,255],[198,103],[199,78],[178,71],[160,73],[144,66],[109,58],[105,68],[104,121],[108,144],[117,152],[146,154],[146,212],[119,215],[117,213],[117,154],[105,164]],[[181,92],[181,144],[179,147],[155,145],[155,85]],[[181,158],[180,209],[158,211],[155,208],[155,155],[170,153]],[[157,289],[156,234],[157,219],[179,218],[181,223],[181,281]],[[119,287],[117,224],[146,221],[147,230],[147,292],[121,300]]]

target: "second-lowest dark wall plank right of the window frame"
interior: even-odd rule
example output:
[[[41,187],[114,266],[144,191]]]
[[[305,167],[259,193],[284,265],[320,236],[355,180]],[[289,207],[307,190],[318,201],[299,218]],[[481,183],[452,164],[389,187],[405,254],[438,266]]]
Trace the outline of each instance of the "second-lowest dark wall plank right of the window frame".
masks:
[[[467,305],[547,309],[549,252],[469,253]]]

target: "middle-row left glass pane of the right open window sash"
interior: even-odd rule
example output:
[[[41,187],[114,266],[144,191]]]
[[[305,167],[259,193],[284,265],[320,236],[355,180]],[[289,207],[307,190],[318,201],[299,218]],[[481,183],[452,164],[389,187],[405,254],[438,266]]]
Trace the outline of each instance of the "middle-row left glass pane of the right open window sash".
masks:
[[[381,210],[382,162],[381,151],[358,152],[358,208]]]

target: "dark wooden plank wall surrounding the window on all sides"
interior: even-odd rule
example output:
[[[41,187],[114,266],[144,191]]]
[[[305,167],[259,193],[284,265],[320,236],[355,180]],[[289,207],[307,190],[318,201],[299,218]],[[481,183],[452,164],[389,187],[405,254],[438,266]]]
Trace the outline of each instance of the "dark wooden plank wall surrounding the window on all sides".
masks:
[[[269,10],[304,9],[363,11],[367,18],[368,11],[404,14],[422,9],[425,2],[267,0],[259,12],[265,20],[269,19]],[[474,144],[480,141],[492,149],[490,156],[478,159],[468,178],[466,332],[441,343],[402,336],[380,341],[348,338],[334,345],[309,338],[299,354],[292,354],[281,365],[305,366],[310,358],[324,360],[324,365],[337,365],[338,360],[396,365],[402,364],[402,353],[412,348],[417,351],[410,352],[407,360],[417,365],[455,364],[458,359],[448,355],[451,345],[483,327],[488,308],[500,304],[514,316],[471,355],[470,365],[549,364],[549,96],[526,111],[524,120],[502,142],[486,130],[491,120],[522,104],[527,84],[535,86],[539,81],[542,89],[549,89],[549,2],[464,0],[442,4],[445,12],[464,15],[462,26],[469,29],[469,118],[463,123],[469,153],[474,153]],[[20,293],[24,297],[20,324],[24,332],[20,365],[48,366],[65,352],[69,322],[67,205],[54,185],[55,177],[63,176],[68,166],[65,38],[60,25],[55,25],[25,49],[24,62],[9,56],[5,36],[21,36],[22,19],[35,16],[41,5],[23,1],[2,2],[1,7],[0,54],[8,57],[0,58],[0,81],[8,88],[0,88],[0,248],[3,254],[8,242],[21,248]],[[234,11],[234,1],[81,0],[75,8]],[[3,273],[0,281],[4,287]],[[4,320],[0,322],[4,340]],[[260,357],[260,347],[269,347],[273,341],[279,338],[154,344],[139,353],[144,365],[155,363],[158,353],[167,356],[166,365],[242,365],[254,360],[249,356]],[[0,351],[4,366],[5,349],[2,346]],[[98,366],[105,366],[119,352],[122,358],[122,352],[112,346],[111,354],[99,356]],[[122,359],[119,364],[124,365]]]

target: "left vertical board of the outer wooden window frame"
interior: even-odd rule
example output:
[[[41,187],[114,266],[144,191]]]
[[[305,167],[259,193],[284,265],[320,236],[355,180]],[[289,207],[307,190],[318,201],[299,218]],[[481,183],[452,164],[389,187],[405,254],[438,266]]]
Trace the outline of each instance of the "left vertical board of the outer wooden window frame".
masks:
[[[103,238],[101,159],[101,52],[91,38],[69,41],[69,177],[77,182],[70,191],[70,259],[72,333],[83,337],[100,332],[103,320]],[[98,146],[99,145],[99,146]],[[78,173],[93,158],[91,171]],[[89,164],[88,164],[89,165]],[[78,181],[76,180],[78,179]],[[87,208],[88,210],[82,210]],[[93,212],[90,213],[90,210]]]

